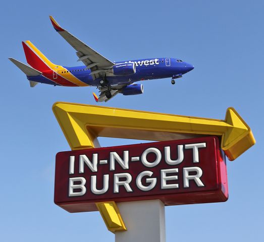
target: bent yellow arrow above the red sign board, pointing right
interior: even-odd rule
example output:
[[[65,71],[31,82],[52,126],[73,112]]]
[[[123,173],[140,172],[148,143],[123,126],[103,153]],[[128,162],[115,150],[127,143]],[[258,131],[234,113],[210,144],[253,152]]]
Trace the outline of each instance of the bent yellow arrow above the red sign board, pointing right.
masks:
[[[97,137],[165,141],[216,135],[234,160],[255,144],[250,128],[232,107],[225,120],[65,102],[55,103],[53,111],[72,150],[98,147]]]

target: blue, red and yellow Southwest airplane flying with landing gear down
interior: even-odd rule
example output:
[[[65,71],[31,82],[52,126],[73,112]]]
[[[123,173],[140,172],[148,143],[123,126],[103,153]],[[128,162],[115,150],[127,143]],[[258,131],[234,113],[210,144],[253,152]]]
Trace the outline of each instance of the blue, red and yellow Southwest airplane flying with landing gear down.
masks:
[[[93,92],[96,102],[108,101],[118,93],[136,95],[143,93],[143,85],[135,82],[162,78],[175,79],[193,70],[193,65],[179,58],[155,57],[112,62],[97,51],[63,29],[49,16],[55,30],[77,51],[78,61],[85,66],[65,67],[53,64],[29,40],[23,41],[27,64],[9,58],[29,80],[30,87],[38,83],[54,86],[94,86],[99,97]]]

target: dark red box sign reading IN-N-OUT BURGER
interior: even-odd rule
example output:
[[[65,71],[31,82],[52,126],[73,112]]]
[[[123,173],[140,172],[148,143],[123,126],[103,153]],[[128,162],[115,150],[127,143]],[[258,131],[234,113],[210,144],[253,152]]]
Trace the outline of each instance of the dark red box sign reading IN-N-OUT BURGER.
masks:
[[[60,152],[55,203],[69,212],[95,202],[160,199],[165,205],[224,202],[225,156],[217,137]]]

